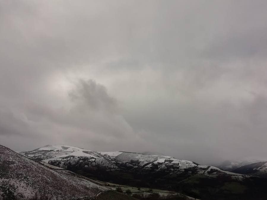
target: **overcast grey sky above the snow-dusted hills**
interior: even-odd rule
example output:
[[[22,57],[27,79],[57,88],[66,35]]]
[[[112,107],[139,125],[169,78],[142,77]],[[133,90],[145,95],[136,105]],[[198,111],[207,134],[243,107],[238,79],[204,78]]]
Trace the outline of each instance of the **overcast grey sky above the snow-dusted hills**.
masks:
[[[0,0],[0,144],[267,157],[266,9]]]

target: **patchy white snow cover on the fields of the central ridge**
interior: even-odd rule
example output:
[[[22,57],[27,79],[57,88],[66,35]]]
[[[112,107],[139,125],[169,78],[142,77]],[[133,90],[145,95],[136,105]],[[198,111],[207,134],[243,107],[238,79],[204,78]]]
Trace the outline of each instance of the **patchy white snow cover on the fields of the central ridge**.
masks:
[[[240,174],[223,171],[217,167],[211,167],[208,165],[198,165],[192,161],[180,160],[170,156],[157,156],[147,155],[142,153],[131,153],[123,151],[110,151],[110,152],[95,152],[85,150],[78,147],[72,147],[68,145],[49,145],[34,151],[28,151],[26,156],[36,159],[42,159],[43,162],[52,163],[50,161],[57,162],[58,167],[66,168],[68,164],[76,164],[78,157],[88,157],[88,163],[92,166],[102,166],[107,169],[117,169],[116,162],[125,163],[133,168],[143,167],[149,169],[154,165],[158,166],[157,170],[170,170],[170,173],[177,171],[184,172],[185,169],[198,170],[198,173],[208,176],[216,175],[218,173],[224,173],[228,175],[243,176]],[[80,160],[79,162],[83,162]],[[65,165],[65,163],[68,163]],[[89,167],[88,164],[86,164]],[[170,167],[171,166],[171,167]],[[167,169],[168,168],[168,169]],[[214,169],[214,171],[211,171]]]

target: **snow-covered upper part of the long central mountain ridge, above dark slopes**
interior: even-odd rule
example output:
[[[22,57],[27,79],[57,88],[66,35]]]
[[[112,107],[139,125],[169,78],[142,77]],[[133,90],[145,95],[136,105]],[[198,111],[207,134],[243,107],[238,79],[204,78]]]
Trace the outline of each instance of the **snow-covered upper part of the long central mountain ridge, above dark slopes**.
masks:
[[[68,145],[47,145],[23,155],[45,163],[74,171],[104,169],[106,171],[149,171],[171,174],[198,173],[205,175],[225,174],[242,179],[243,175],[223,171],[217,167],[199,165],[192,161],[170,156],[146,155],[132,152],[96,152]]]

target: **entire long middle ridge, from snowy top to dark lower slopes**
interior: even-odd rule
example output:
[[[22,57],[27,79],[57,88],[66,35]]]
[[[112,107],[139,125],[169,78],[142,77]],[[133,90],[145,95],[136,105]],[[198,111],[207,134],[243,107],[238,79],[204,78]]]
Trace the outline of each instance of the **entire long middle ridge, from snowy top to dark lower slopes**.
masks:
[[[170,156],[95,152],[67,145],[48,145],[22,153],[93,179],[177,191],[202,200],[267,196],[265,180]]]

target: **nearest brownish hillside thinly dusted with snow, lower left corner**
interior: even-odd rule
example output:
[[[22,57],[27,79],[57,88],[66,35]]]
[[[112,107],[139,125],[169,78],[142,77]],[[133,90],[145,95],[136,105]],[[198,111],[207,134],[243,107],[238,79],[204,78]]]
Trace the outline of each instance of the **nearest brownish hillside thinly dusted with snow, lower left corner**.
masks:
[[[107,188],[68,170],[53,170],[0,145],[0,199],[78,199]]]

